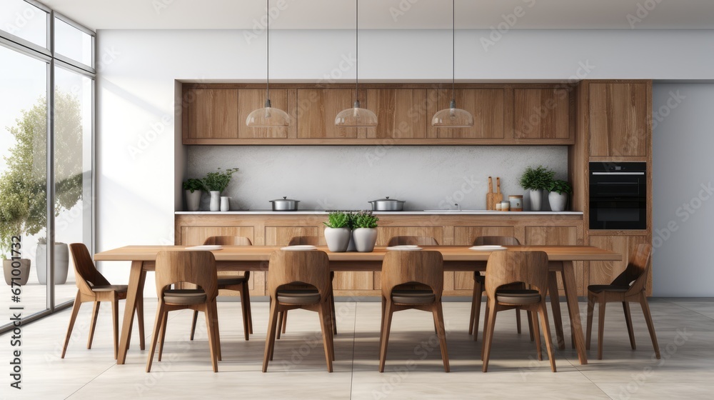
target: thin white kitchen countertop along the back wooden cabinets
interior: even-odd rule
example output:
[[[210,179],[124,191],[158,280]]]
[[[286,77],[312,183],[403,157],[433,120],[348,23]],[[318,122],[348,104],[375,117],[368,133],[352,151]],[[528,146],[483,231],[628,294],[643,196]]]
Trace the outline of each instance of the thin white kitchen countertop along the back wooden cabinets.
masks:
[[[325,210],[298,210],[298,211],[272,211],[272,210],[231,210],[231,211],[176,211],[176,215],[314,215],[327,214]],[[583,211],[488,211],[488,210],[463,210],[463,211],[437,211],[437,210],[406,210],[406,211],[373,211],[375,215],[583,215]]]

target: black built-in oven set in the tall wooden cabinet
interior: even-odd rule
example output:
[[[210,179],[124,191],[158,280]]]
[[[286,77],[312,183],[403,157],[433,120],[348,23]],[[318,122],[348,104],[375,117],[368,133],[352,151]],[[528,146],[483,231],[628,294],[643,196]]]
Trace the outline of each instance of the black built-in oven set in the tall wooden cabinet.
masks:
[[[646,163],[590,163],[590,229],[647,229]]]

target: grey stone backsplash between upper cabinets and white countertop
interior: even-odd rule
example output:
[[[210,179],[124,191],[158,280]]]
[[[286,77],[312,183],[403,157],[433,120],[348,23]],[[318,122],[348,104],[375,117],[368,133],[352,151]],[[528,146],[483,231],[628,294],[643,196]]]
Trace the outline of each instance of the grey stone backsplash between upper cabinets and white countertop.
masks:
[[[518,184],[527,166],[568,174],[567,146],[188,146],[188,176],[238,167],[223,196],[231,210],[270,209],[271,199],[299,208],[369,209],[367,201],[405,200],[405,209],[486,209],[488,176],[501,176],[504,199],[528,195]],[[548,209],[548,201],[543,202]],[[201,210],[207,209],[203,196]]]

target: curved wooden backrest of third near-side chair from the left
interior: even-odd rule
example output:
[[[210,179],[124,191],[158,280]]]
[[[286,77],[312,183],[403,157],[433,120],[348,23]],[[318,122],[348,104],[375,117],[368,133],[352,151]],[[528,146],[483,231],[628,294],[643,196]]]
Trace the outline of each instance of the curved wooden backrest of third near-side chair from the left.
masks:
[[[394,286],[418,283],[429,286],[441,299],[444,260],[438,251],[387,251],[382,261],[382,296],[391,296]]]

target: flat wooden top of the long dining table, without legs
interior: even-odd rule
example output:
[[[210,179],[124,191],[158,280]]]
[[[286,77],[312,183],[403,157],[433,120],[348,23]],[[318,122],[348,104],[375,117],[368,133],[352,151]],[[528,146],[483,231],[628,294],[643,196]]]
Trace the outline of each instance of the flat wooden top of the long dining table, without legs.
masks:
[[[467,246],[422,246],[425,250],[441,252],[444,261],[486,261],[491,251],[475,251]],[[506,246],[509,251],[545,251],[550,261],[620,261],[622,255],[594,246]],[[124,246],[101,251],[94,255],[95,261],[155,261],[156,254],[163,250],[181,250],[186,246]],[[268,261],[273,251],[281,246],[223,246],[214,250],[216,261]],[[387,250],[375,247],[370,253],[333,253],[326,246],[318,246],[331,261],[381,261]]]

